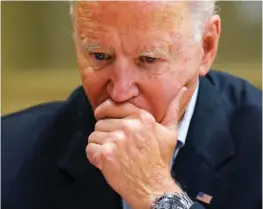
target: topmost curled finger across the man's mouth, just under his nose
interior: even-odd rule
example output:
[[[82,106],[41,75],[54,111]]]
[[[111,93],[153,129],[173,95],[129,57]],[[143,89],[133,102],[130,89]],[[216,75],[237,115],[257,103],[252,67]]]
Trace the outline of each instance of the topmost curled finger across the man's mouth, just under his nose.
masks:
[[[131,103],[116,103],[108,99],[96,108],[94,115],[97,120],[105,118],[125,118],[138,111],[139,108]]]

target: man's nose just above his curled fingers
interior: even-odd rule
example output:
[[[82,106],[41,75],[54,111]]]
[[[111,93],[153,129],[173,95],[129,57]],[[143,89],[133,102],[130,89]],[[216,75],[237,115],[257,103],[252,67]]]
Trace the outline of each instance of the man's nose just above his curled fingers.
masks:
[[[138,96],[139,89],[134,80],[135,70],[125,61],[116,63],[108,83],[107,91],[115,102],[126,102]]]

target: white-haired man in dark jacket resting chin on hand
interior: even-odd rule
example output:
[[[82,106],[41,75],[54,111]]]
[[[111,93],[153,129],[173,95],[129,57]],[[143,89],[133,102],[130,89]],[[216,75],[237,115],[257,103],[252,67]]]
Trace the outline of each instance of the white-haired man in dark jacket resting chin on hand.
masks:
[[[261,92],[209,72],[215,2],[75,2],[72,17],[83,87],[3,117],[2,207],[261,208]]]

